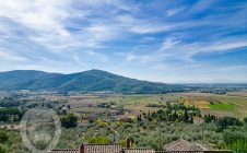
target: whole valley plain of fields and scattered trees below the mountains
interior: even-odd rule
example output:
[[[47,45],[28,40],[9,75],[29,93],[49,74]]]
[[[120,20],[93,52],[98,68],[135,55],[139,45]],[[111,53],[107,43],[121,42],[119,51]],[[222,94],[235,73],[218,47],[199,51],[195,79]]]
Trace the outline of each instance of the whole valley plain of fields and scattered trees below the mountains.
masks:
[[[63,94],[36,94],[35,96],[22,96],[15,101],[24,101],[23,106],[30,107],[34,103],[50,104],[52,109],[56,110],[61,118],[61,121],[67,121],[67,116],[74,115],[77,117],[77,125],[73,128],[62,128],[62,136],[57,145],[58,149],[75,149],[81,142],[87,143],[109,143],[113,141],[113,132],[116,132],[116,141],[125,142],[127,137],[136,139],[136,146],[143,148],[158,148],[158,127],[163,126],[162,139],[163,144],[170,143],[180,137],[189,141],[201,141],[201,115],[214,115],[216,117],[236,117],[244,122],[247,117],[247,92],[234,92],[227,94],[209,94],[209,93],[169,93],[169,94],[82,94],[72,93],[70,95]],[[2,98],[3,99],[3,98]],[[13,98],[14,99],[14,98]],[[11,101],[13,101],[11,99]],[[27,101],[28,99],[28,101]],[[5,99],[8,101],[8,98]],[[184,105],[173,105],[180,104]],[[167,105],[172,104],[172,105]],[[164,107],[167,105],[167,107]],[[170,116],[170,120],[164,120],[162,123],[158,116],[155,118],[156,113],[163,113],[161,117],[166,115],[166,111],[161,111],[174,106],[172,111],[166,116]],[[176,107],[175,107],[176,106]],[[198,116],[193,120],[187,122],[184,120],[184,109],[195,109]],[[186,108],[185,108],[186,107]],[[197,111],[198,110],[198,111]],[[176,119],[172,120],[176,111]],[[188,110],[190,113],[191,110]],[[141,116],[141,119],[140,119]],[[180,118],[179,118],[180,117]],[[151,119],[152,120],[151,120]],[[168,118],[169,119],[169,118]],[[180,120],[179,120],[180,119]],[[214,121],[214,120],[213,120]],[[10,150],[14,150],[17,145],[22,152],[26,152],[23,146],[17,130],[19,123],[3,122],[0,125],[2,129],[9,129],[11,142]],[[205,143],[210,148],[225,149],[222,145],[224,131],[216,131],[216,122],[204,123]],[[238,128],[245,128],[238,127]],[[227,127],[225,127],[227,129]],[[149,134],[146,134],[149,133]],[[114,136],[115,137],[115,136]],[[97,141],[96,141],[97,140]],[[155,140],[146,143],[146,140]],[[96,141],[96,142],[95,142]],[[102,142],[103,141],[103,142]]]

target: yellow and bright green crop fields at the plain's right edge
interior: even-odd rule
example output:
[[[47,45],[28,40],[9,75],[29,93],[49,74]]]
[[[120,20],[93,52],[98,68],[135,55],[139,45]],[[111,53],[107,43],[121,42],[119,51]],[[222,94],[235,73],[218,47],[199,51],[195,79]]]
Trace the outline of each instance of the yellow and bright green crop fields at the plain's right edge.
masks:
[[[195,105],[200,108],[204,115],[247,117],[247,98],[245,96],[200,93],[181,95],[186,105]]]

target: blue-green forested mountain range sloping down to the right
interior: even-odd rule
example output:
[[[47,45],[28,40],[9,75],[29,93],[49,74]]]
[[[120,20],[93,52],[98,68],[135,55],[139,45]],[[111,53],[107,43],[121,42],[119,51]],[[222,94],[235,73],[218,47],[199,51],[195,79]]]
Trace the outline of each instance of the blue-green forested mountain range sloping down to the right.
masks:
[[[102,70],[62,74],[34,70],[0,72],[0,90],[47,90],[115,93],[168,93],[185,91],[184,85],[129,79]]]

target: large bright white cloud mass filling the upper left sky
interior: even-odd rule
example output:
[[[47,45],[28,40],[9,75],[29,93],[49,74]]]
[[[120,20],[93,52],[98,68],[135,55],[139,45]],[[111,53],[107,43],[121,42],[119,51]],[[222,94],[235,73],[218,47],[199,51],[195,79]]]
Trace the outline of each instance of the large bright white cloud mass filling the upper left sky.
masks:
[[[75,4],[81,5],[81,8],[73,8]],[[16,26],[21,26],[20,31],[26,33],[26,39],[47,48],[49,51],[61,51],[70,48],[102,48],[103,43],[116,36],[117,30],[113,28],[116,28],[117,25],[113,27],[113,23],[107,25],[89,17],[96,12],[87,5],[97,7],[98,4],[124,5],[124,3],[113,0],[3,0],[0,3],[0,19],[4,19],[4,21],[0,20],[2,24],[0,32],[8,33],[11,37],[20,37],[14,32]],[[74,23],[73,19],[87,22],[87,25]],[[3,26],[7,25],[7,21],[9,22],[8,26]],[[75,27],[78,31],[71,32],[68,30],[69,27]]]

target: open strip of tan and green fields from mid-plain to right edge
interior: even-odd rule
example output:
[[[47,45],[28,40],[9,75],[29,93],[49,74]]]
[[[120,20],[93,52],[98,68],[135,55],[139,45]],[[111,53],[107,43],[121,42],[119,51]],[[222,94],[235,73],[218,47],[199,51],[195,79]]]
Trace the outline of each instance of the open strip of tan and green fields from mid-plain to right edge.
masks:
[[[176,93],[155,95],[104,95],[104,96],[77,96],[78,99],[69,101],[71,111],[83,111],[90,107],[90,111],[104,111],[94,107],[101,103],[116,103],[116,106],[125,107],[129,116],[141,111],[154,111],[157,107],[152,105],[165,105],[166,103],[184,103],[199,108],[202,114],[215,116],[247,117],[247,93],[228,93],[225,95],[204,93]],[[83,106],[83,107],[82,107]],[[151,106],[151,107],[150,107]]]

